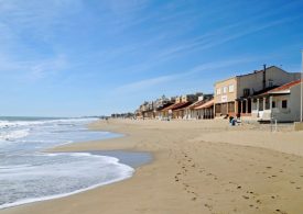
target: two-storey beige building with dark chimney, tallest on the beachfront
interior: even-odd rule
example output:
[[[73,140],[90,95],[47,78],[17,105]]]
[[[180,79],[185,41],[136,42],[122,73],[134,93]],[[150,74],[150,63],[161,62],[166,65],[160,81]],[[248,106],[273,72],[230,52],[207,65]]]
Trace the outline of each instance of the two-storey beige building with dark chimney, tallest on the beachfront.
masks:
[[[251,95],[300,79],[300,72],[288,72],[271,66],[248,75],[215,83],[215,116],[251,116]]]

